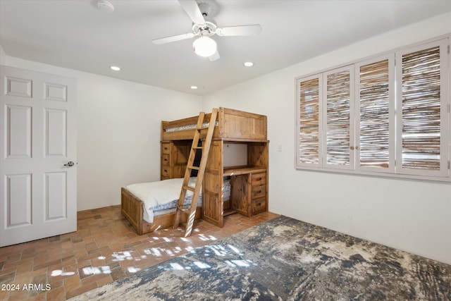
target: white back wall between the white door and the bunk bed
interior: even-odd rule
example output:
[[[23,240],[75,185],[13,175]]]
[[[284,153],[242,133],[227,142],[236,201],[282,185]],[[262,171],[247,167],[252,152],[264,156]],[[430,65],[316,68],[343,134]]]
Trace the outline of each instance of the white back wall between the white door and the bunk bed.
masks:
[[[6,57],[69,76],[78,89],[78,211],[121,204],[121,187],[159,180],[161,120],[195,116],[202,97]]]

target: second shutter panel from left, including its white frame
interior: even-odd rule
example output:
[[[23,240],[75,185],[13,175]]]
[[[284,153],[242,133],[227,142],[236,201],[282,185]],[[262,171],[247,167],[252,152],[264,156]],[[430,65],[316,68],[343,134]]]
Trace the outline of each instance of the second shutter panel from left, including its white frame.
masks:
[[[352,66],[324,73],[326,156],[330,168],[354,168],[354,73]],[[352,101],[351,101],[352,100]]]

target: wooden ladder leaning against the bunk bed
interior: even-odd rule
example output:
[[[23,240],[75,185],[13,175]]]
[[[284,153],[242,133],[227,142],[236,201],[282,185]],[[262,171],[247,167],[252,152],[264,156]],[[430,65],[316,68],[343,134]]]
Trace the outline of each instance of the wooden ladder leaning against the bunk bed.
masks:
[[[178,224],[180,223],[180,216],[182,214],[188,214],[187,222],[186,222],[186,228],[185,228],[185,237],[191,235],[192,231],[192,225],[194,224],[194,216],[196,215],[196,207],[197,207],[197,200],[199,199],[200,190],[202,188],[202,182],[204,180],[204,172],[205,172],[205,166],[206,166],[206,160],[209,156],[210,151],[210,145],[211,145],[211,138],[213,137],[213,131],[214,131],[214,125],[216,123],[216,116],[218,115],[218,109],[214,108],[211,111],[210,116],[210,123],[208,127],[204,127],[204,117],[205,113],[201,112],[199,114],[199,119],[197,120],[197,128],[194,132],[194,138],[192,140],[192,147],[190,151],[190,156],[188,158],[187,167],[185,170],[185,178],[183,178],[183,185],[182,190],[180,191],[180,197],[178,199],[178,205],[177,205],[177,211],[175,212],[174,216],[174,223],[173,228],[177,228]],[[204,143],[202,144],[202,147],[199,147],[199,138],[201,130],[206,130],[206,137],[204,140]],[[194,157],[196,156],[196,150],[202,149],[202,156],[200,159],[199,166],[194,166]],[[191,177],[191,171],[197,170],[197,179],[196,183],[194,184],[194,187],[189,186],[189,181]],[[183,201],[185,200],[185,195],[187,190],[190,190],[193,192],[191,205],[189,208],[185,209],[183,208]]]

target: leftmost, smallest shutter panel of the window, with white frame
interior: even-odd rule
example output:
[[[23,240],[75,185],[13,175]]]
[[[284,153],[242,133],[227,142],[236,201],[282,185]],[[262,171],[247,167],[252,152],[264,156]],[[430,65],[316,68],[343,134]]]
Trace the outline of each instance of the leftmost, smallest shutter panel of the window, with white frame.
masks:
[[[297,165],[320,164],[321,75],[297,81]]]

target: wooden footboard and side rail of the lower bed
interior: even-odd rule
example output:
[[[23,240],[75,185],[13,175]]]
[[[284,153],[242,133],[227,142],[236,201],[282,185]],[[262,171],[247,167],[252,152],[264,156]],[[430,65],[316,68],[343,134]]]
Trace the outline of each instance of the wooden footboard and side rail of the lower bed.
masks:
[[[121,213],[125,216],[135,228],[139,235],[156,231],[161,228],[168,228],[173,225],[173,219],[175,212],[169,214],[163,214],[154,217],[153,223],[147,223],[142,219],[142,208],[143,203],[140,199],[135,197],[130,191],[125,188],[121,188]],[[202,217],[202,209],[197,207],[195,219],[200,219]],[[180,222],[185,223],[187,221],[187,215],[182,214],[180,217]]]

